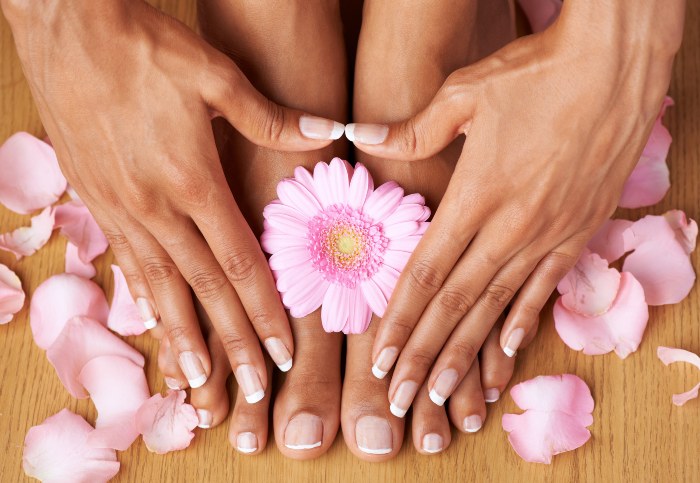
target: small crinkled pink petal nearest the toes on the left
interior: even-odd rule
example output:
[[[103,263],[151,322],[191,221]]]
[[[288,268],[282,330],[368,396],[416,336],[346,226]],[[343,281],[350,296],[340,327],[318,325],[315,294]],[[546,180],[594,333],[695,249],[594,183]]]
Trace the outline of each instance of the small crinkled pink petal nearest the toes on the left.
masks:
[[[143,434],[149,451],[165,454],[190,445],[198,418],[194,408],[185,403],[185,391],[168,391],[163,397],[153,395],[136,413],[136,428]]]

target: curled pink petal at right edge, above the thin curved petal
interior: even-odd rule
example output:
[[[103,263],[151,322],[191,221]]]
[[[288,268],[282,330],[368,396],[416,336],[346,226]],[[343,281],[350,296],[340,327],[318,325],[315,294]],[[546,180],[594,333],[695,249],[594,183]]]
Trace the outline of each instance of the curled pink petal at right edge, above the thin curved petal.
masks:
[[[695,249],[697,224],[682,212],[645,216],[623,233],[625,259],[622,270],[632,273],[644,287],[649,305],[675,304],[695,283],[689,254]]]

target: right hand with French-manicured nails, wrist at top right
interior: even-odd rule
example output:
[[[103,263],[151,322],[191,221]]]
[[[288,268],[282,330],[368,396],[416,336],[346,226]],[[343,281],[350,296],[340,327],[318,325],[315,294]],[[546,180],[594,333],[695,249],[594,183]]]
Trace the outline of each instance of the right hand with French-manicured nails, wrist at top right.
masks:
[[[347,127],[359,149],[400,160],[466,134],[374,343],[378,373],[398,357],[392,404],[406,408],[429,372],[433,400],[449,397],[515,298],[500,338],[513,356],[614,211],[668,88],[683,10],[601,3],[565,2],[552,28],[456,71],[406,122]]]

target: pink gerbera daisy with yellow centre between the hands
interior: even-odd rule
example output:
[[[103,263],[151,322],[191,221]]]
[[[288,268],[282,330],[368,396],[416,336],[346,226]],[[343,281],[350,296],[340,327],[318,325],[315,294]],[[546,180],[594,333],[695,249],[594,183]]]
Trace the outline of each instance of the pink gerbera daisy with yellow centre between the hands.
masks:
[[[313,175],[298,167],[265,207],[263,249],[293,317],[321,305],[327,332],[361,334],[381,317],[399,273],[428,227],[419,194],[389,181],[374,189],[367,168],[334,158]]]

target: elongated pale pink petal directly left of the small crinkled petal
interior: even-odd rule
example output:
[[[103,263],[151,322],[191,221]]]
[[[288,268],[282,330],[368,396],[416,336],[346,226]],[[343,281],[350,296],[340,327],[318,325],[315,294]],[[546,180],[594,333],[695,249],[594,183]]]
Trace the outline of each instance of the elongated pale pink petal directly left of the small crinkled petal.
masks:
[[[136,412],[150,396],[143,365],[120,356],[90,359],[78,381],[97,409],[95,431],[88,437],[99,448],[126,450],[139,435]]]

